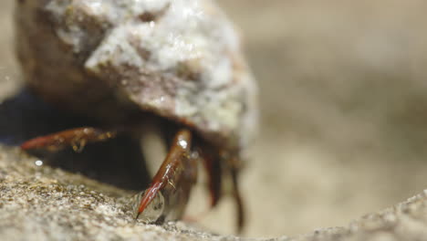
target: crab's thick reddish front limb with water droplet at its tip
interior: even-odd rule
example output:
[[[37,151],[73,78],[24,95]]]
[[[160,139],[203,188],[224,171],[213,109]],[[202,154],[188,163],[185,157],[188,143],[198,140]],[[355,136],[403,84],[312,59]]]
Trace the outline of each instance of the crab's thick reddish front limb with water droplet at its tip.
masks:
[[[192,134],[188,130],[178,131],[166,159],[152,179],[150,187],[141,194],[135,207],[136,218],[141,216],[148,222],[182,217],[193,184],[197,178],[197,162],[191,153]],[[156,204],[151,204],[158,198]],[[162,206],[159,206],[161,204]],[[149,208],[152,206],[152,208]],[[149,209],[160,209],[152,216]]]

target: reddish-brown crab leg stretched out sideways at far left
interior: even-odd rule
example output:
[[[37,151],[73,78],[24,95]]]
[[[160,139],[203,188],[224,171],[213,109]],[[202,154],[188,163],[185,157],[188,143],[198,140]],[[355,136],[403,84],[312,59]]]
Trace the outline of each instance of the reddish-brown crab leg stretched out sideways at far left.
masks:
[[[21,148],[26,151],[43,149],[56,152],[70,145],[74,151],[81,152],[87,143],[106,141],[114,138],[116,134],[117,131],[103,131],[92,127],[80,127],[37,137],[24,142]]]

